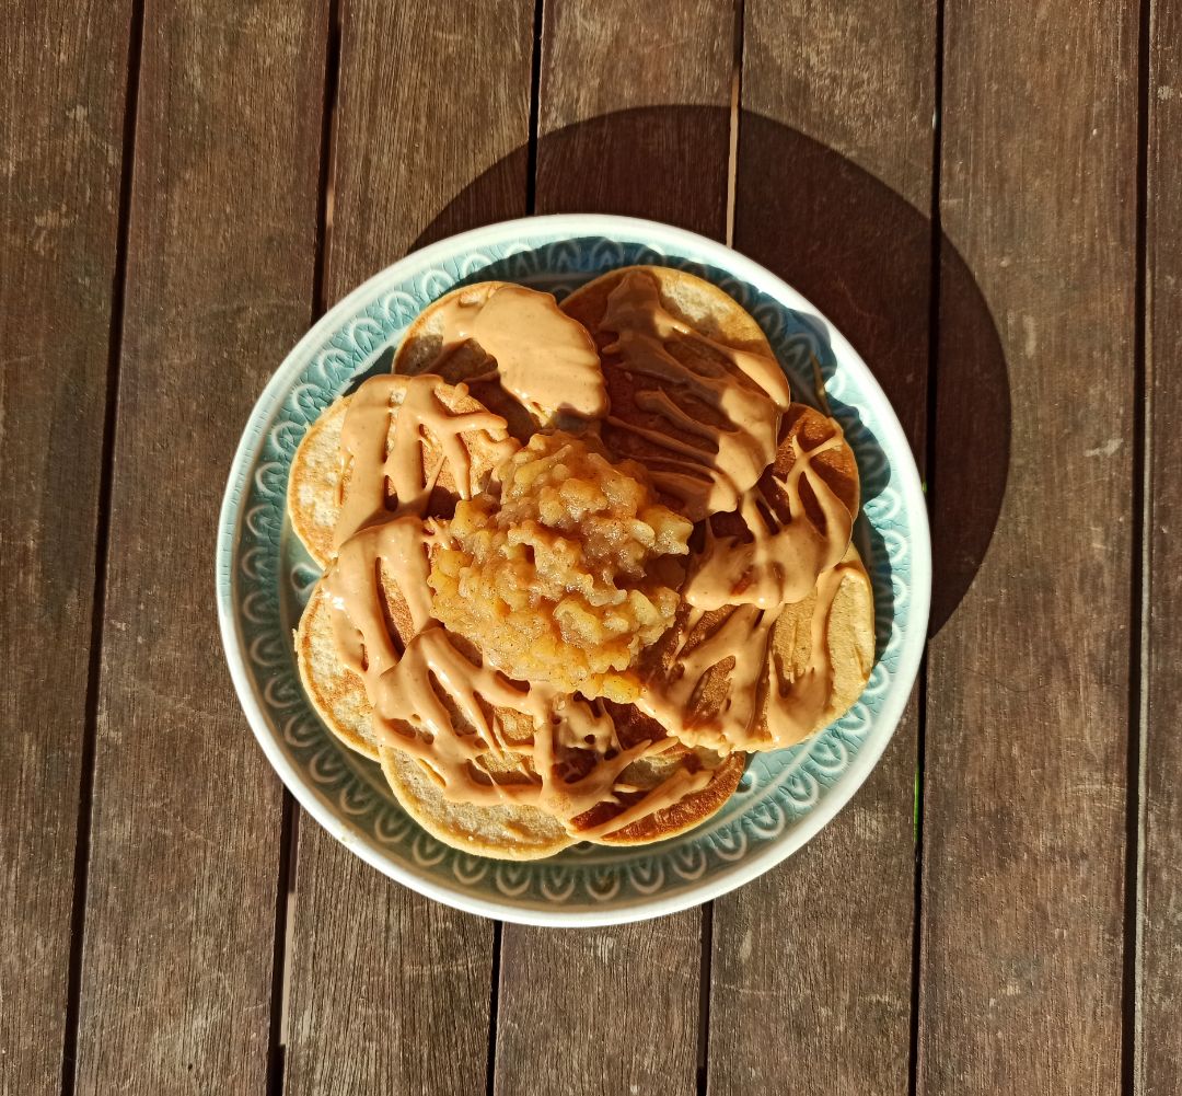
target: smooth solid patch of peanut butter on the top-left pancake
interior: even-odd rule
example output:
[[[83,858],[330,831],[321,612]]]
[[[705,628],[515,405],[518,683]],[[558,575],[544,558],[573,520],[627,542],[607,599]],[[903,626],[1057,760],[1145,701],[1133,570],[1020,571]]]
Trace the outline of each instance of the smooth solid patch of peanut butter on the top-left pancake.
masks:
[[[558,411],[584,419],[608,413],[608,389],[595,342],[551,293],[502,285],[483,303],[453,297],[440,307],[443,350],[469,339],[496,359],[501,387],[540,422]]]

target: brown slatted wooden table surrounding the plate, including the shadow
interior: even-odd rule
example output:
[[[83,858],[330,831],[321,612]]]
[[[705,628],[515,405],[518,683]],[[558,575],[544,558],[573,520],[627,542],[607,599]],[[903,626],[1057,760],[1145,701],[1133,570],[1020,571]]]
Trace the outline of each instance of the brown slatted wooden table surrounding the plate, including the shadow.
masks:
[[[1182,1091],[1182,0],[15,0],[0,87],[0,1091]],[[325,305],[556,210],[808,296],[937,560],[853,803],[591,932],[305,824],[213,605]]]

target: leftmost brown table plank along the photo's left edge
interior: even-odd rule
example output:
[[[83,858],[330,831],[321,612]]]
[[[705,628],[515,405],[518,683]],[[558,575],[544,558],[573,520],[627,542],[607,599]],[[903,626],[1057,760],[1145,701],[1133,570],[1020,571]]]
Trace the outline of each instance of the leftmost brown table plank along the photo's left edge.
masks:
[[[18,4],[0,34],[6,1096],[61,1081],[129,18]]]

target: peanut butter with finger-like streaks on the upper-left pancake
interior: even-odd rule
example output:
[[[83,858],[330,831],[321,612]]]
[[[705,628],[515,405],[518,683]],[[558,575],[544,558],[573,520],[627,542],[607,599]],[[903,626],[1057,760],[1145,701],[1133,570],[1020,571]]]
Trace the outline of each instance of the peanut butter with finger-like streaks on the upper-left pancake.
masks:
[[[491,442],[504,440],[506,423],[488,410],[449,410],[436,391],[441,383],[429,374],[371,377],[353,394],[340,429],[349,489],[337,518],[336,549],[390,512],[388,493],[397,500],[396,513],[424,513],[443,461],[450,466],[460,497],[472,498],[472,458],[460,435],[483,430]],[[463,385],[457,388],[467,393]],[[423,468],[424,430],[442,450],[429,473]]]

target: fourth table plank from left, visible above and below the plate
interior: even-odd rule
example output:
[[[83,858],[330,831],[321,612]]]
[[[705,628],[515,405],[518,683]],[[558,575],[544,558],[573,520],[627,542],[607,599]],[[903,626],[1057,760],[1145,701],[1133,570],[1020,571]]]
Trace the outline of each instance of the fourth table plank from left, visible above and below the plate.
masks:
[[[726,0],[547,4],[538,212],[626,213],[722,238],[733,25]],[[701,916],[506,925],[498,1096],[694,1092]],[[579,1037],[552,1053],[556,1031]]]

